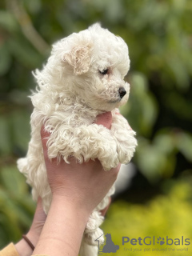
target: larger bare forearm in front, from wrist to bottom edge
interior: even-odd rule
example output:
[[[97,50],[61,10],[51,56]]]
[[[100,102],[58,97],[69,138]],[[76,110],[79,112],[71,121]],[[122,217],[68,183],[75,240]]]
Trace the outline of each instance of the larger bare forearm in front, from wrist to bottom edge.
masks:
[[[89,214],[63,197],[53,198],[34,254],[78,256]]]

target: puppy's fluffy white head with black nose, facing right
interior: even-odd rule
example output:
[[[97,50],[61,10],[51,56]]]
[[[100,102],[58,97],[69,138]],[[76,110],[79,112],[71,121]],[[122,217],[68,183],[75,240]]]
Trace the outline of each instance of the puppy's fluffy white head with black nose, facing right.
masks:
[[[94,24],[54,44],[43,71],[54,90],[109,111],[128,99],[130,85],[123,79],[129,68],[126,43]]]

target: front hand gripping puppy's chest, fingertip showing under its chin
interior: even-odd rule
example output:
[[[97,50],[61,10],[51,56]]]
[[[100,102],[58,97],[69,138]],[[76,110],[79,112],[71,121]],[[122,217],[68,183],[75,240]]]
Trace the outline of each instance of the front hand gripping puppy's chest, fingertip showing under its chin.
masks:
[[[111,112],[99,115],[96,124],[102,124],[110,129]],[[102,201],[110,187],[114,184],[120,165],[110,171],[104,171],[98,159],[79,164],[75,158],[70,158],[70,164],[57,158],[49,159],[46,142],[49,134],[43,130],[42,147],[46,162],[46,170],[53,198],[65,198],[65,202],[73,202],[78,208],[83,207],[87,214]]]

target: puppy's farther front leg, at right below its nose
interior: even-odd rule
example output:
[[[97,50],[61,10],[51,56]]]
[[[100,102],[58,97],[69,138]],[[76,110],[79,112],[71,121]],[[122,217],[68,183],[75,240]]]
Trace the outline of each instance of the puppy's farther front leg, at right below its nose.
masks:
[[[131,129],[126,118],[121,114],[113,113],[113,122],[110,132],[117,143],[118,160],[121,163],[128,163],[134,155],[137,140],[134,138],[135,132]]]

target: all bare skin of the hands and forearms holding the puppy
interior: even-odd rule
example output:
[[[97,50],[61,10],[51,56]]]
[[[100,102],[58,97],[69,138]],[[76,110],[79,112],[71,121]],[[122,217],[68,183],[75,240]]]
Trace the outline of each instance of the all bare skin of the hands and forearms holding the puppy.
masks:
[[[99,115],[96,123],[110,129],[112,115],[110,112]],[[42,210],[42,200],[38,198],[34,221],[26,234],[34,244],[35,254],[50,256],[78,256],[86,222],[110,187],[114,184],[120,165],[110,171],[104,171],[98,159],[78,164],[70,158],[70,164],[47,156],[47,134],[43,129],[42,147],[46,162],[47,176],[53,199],[46,217]],[[102,214],[106,213],[106,209]],[[18,242],[16,250],[21,256],[32,254],[30,246],[24,239]]]

